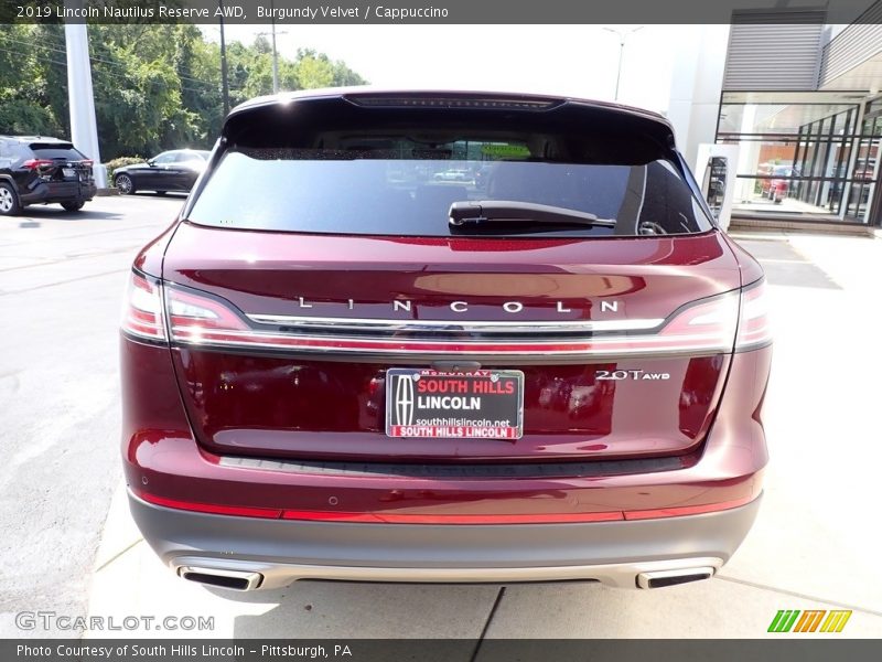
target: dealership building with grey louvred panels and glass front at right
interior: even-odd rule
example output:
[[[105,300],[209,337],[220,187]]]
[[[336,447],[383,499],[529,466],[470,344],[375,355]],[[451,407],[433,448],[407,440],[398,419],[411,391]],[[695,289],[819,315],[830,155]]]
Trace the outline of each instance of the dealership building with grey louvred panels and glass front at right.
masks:
[[[827,20],[740,11],[680,43],[667,115],[706,188],[729,160],[735,223],[882,226],[882,0]]]

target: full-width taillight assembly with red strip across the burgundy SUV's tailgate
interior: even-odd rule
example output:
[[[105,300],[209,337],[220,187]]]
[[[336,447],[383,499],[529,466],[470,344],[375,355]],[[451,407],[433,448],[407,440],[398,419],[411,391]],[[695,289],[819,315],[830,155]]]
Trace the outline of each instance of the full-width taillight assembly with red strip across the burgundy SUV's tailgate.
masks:
[[[471,340],[419,338],[416,334],[316,333],[313,329],[255,329],[245,316],[223,299],[162,285],[135,271],[129,284],[122,328],[136,337],[160,341],[171,339],[187,345],[380,354],[708,354],[729,353],[733,349],[750,350],[771,342],[767,300],[762,282],[741,292],[730,291],[687,305],[657,330],[648,332],[596,333],[588,338]]]

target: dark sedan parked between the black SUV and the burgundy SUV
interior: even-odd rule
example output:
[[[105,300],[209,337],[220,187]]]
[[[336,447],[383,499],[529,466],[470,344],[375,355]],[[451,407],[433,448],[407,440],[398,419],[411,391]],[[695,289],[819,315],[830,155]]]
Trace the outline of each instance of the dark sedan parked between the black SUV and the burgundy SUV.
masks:
[[[157,154],[144,163],[123,166],[114,171],[114,186],[122,195],[138,191],[189,192],[196,178],[205,170],[208,154],[205,150],[175,149]]]

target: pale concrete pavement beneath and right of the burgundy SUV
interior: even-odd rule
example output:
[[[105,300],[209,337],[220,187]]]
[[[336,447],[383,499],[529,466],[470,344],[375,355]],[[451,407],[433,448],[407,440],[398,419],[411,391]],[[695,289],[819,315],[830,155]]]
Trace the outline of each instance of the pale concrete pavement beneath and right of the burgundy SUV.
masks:
[[[768,636],[779,609],[851,609],[843,632],[832,637],[882,636],[875,498],[882,349],[873,338],[882,319],[882,242],[739,237],[766,267],[773,302],[776,345],[765,410],[772,461],[756,525],[713,580],[655,591],[558,584],[502,592],[498,586],[304,581],[230,594],[164,568],[135,528],[120,488],[89,613],[118,621],[214,617],[214,629],[87,636],[759,638]]]

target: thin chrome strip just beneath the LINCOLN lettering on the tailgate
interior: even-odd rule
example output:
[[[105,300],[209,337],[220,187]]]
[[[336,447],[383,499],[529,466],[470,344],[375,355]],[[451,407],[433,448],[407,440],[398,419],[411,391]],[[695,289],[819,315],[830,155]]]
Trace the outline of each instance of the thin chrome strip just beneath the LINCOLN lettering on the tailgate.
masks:
[[[247,314],[259,324],[297,324],[308,329],[332,329],[341,331],[466,331],[469,333],[556,333],[569,331],[646,331],[660,327],[659,319],[635,320],[567,320],[553,321],[496,321],[472,320],[380,320],[369,318],[323,318],[288,314]]]

